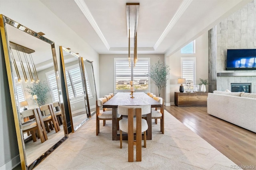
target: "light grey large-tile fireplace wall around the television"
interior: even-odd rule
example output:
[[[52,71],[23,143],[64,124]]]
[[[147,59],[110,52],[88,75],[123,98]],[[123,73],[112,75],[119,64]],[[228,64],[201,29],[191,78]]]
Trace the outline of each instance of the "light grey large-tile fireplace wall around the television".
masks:
[[[216,33],[213,33],[212,36],[215,35],[217,41],[216,68],[212,69],[216,70],[217,73],[255,73],[255,76],[217,76],[216,89],[230,90],[230,83],[252,83],[252,93],[256,93],[256,70],[226,71],[227,49],[256,49],[256,0],[248,3],[216,27],[217,29],[211,30]]]

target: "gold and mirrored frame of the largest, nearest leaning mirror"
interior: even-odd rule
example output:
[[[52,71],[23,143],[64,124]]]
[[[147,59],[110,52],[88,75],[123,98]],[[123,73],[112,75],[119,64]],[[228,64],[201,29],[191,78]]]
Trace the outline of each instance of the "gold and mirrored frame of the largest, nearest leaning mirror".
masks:
[[[55,75],[56,75],[57,88],[58,88],[58,97],[59,97],[59,101],[62,101],[61,97],[60,97],[62,94],[61,94],[61,90],[60,90],[61,86],[60,86],[60,78],[58,76],[59,72],[58,72],[55,45],[54,45],[53,41],[43,37],[42,35],[36,33],[35,31],[32,31],[31,29],[24,27],[20,23],[14,21],[14,20],[11,20],[10,18],[8,18],[2,14],[0,15],[0,33],[1,33],[1,37],[2,37],[4,59],[5,59],[5,63],[6,63],[7,77],[8,77],[8,83],[9,83],[9,89],[10,89],[10,98],[11,98],[11,102],[12,102],[12,110],[13,110],[15,129],[16,129],[17,140],[18,140],[18,148],[19,148],[19,153],[20,153],[21,167],[22,167],[22,170],[32,169],[36,165],[38,165],[44,158],[46,158],[46,156],[48,156],[54,149],[56,149],[61,143],[63,143],[68,138],[66,117],[64,114],[64,105],[63,105],[63,103],[61,104],[61,109],[63,111],[62,117],[63,117],[64,137],[62,137],[62,139],[60,139],[57,143],[55,143],[53,146],[51,146],[38,159],[34,160],[34,162],[32,162],[32,164],[27,165],[26,164],[25,142],[23,139],[23,133],[22,133],[21,124],[20,124],[20,114],[18,114],[18,113],[20,113],[19,112],[19,104],[18,104],[18,101],[16,100],[16,85],[15,85],[15,80],[14,80],[14,71],[12,68],[12,59],[10,57],[11,56],[10,55],[10,42],[8,41],[8,37],[7,37],[6,24],[16,27],[17,29],[19,29],[25,33],[28,33],[29,35],[32,35],[33,37],[38,38],[38,39],[51,45],[53,63],[54,63],[54,71],[55,71]]]

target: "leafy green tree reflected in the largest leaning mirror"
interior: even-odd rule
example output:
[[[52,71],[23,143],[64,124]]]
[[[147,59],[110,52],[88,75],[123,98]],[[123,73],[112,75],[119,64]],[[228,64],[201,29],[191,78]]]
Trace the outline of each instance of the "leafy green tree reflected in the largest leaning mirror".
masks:
[[[50,88],[45,81],[39,81],[34,83],[33,86],[26,86],[28,94],[34,96],[37,95],[37,102],[39,106],[45,105],[47,98],[47,93],[50,92]]]

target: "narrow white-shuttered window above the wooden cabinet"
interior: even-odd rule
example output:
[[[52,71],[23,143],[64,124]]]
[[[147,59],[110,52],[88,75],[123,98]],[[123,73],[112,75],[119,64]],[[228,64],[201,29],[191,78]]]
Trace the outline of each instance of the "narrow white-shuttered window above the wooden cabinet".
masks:
[[[186,86],[194,89],[196,85],[196,58],[181,57],[181,77],[186,78]]]

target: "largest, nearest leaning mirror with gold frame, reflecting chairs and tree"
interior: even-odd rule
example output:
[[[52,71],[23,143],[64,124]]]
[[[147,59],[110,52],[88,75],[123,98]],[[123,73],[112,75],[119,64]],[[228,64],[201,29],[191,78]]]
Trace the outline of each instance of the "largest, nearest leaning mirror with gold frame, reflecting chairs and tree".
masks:
[[[68,137],[54,42],[3,15],[0,31],[21,166],[32,169]]]

